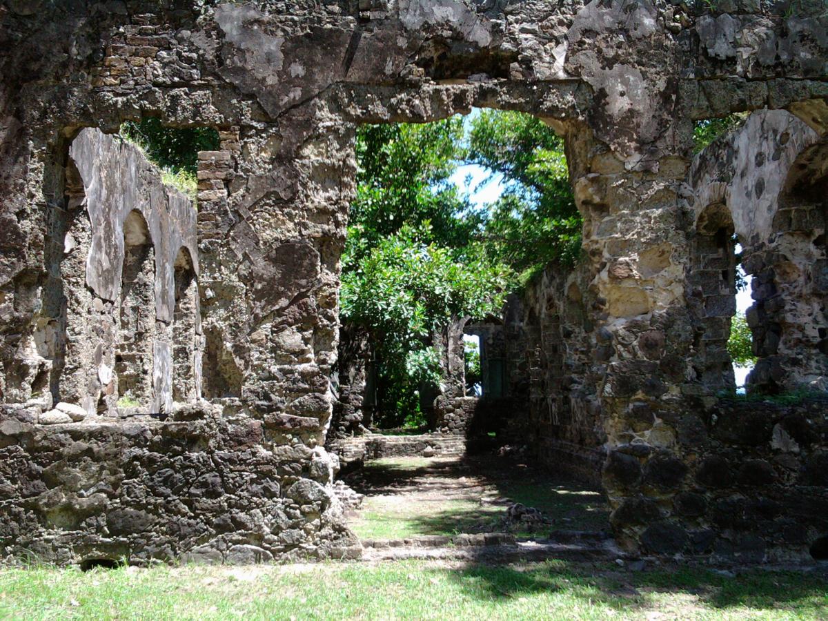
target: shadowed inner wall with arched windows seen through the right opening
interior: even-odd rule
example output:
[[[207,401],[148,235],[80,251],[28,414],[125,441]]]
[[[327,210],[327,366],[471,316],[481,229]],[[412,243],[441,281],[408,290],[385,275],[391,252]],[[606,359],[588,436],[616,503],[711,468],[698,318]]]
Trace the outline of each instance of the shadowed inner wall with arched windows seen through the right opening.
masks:
[[[713,229],[724,221],[725,237],[737,235],[744,269],[753,276],[755,303],[748,320],[759,360],[750,386],[779,392],[828,375],[825,194],[813,191],[828,187],[824,164],[816,164],[824,153],[819,132],[791,113],[774,110],[753,113],[743,128],[692,162],[688,179],[696,262],[688,301],[700,321],[697,354],[711,365],[720,363],[705,378],[712,388],[733,384],[717,380],[721,364],[730,362],[723,345],[735,291],[732,276],[725,279],[729,282],[721,277],[723,269],[733,268],[732,248],[713,244],[713,252],[702,256],[699,244],[710,246],[711,231],[705,227],[711,229],[711,221]],[[693,306],[696,301],[699,306]]]

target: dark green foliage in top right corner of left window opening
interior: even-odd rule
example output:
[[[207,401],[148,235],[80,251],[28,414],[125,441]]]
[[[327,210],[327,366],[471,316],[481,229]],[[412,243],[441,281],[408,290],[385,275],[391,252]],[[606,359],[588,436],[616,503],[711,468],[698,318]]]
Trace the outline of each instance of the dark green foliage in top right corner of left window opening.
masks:
[[[147,157],[161,168],[195,175],[198,152],[218,151],[219,132],[213,128],[167,128],[157,118],[127,121],[121,136],[142,147]]]

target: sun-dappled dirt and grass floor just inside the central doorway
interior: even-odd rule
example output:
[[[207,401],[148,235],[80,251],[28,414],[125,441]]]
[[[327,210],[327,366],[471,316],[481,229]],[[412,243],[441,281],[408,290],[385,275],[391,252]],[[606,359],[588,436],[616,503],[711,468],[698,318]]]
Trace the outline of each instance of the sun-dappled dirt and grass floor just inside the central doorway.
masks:
[[[553,530],[607,527],[601,493],[505,458],[383,459],[346,480],[365,495],[349,524],[362,539],[480,532],[543,538]],[[509,519],[514,503],[540,513]]]

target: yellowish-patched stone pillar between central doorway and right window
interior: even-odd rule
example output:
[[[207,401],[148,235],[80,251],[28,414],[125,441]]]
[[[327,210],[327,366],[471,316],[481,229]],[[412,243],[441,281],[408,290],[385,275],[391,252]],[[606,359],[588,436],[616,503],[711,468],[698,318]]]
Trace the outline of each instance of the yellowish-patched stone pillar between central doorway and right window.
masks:
[[[685,397],[700,391],[688,364],[684,301],[686,162],[665,152],[648,171],[634,171],[600,147],[588,153],[572,181],[595,274],[586,297],[597,386],[594,402],[583,397],[573,407],[600,408],[608,450],[602,478],[619,542],[652,549],[667,529],[676,531],[671,541],[680,551],[689,536],[681,518],[671,519],[671,498],[686,477],[683,455],[704,435],[698,414],[685,407]]]

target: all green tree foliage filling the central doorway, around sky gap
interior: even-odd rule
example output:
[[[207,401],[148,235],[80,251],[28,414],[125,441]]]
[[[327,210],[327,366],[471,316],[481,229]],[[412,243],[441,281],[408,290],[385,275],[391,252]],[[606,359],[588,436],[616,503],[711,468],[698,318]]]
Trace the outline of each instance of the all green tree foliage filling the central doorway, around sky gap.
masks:
[[[483,112],[425,125],[364,126],[343,257],[341,319],[378,353],[380,426],[421,424],[421,392],[439,383],[430,335],[452,315],[497,312],[506,291],[580,248],[561,140],[529,115]],[[506,192],[475,209],[450,176],[460,162],[503,175]]]

